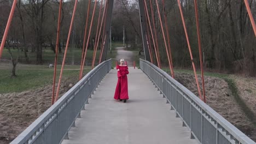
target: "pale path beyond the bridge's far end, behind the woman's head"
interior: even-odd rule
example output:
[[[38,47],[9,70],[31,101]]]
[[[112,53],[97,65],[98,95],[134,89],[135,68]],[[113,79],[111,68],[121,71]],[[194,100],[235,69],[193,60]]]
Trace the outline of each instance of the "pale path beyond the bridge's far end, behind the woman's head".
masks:
[[[117,47],[115,49],[117,49],[117,57],[115,57],[115,60],[119,61],[121,58],[124,58],[124,60],[127,62],[127,65],[133,65],[135,56],[132,51],[126,51],[124,47]]]

